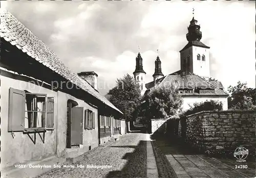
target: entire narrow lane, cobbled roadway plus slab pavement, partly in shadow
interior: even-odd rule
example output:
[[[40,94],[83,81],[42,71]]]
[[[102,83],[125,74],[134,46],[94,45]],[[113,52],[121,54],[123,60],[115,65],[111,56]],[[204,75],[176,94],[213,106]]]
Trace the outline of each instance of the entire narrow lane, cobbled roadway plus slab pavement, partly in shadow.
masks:
[[[117,141],[107,142],[86,152],[78,161],[61,165],[36,178],[43,177],[252,177],[255,164],[235,169],[236,162],[199,155],[164,137],[152,138],[144,128],[136,128]],[[66,168],[63,165],[73,165]],[[85,166],[79,168],[77,165]],[[91,167],[88,168],[87,165]],[[97,168],[98,166],[98,168]],[[103,167],[100,167],[103,166]]]

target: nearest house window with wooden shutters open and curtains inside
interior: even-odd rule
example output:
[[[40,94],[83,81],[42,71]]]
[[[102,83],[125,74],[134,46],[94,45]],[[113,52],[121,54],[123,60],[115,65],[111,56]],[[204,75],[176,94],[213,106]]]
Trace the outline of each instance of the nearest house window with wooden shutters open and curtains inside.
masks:
[[[54,98],[9,89],[8,132],[53,129]]]

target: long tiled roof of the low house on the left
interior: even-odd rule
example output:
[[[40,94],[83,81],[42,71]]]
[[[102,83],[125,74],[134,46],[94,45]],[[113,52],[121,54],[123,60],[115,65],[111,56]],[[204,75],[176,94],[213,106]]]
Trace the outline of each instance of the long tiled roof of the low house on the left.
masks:
[[[76,73],[63,64],[62,61],[53,53],[53,51],[46,44],[44,44],[44,42],[38,39],[11,13],[1,10],[0,15],[0,36],[2,38],[9,41],[12,45],[15,45],[18,49],[22,50],[24,53],[27,53],[27,55],[55,71],[82,90],[99,99],[105,105],[108,105],[109,107],[123,114],[112,103],[110,103],[108,99],[90,86],[88,82],[82,80]]]

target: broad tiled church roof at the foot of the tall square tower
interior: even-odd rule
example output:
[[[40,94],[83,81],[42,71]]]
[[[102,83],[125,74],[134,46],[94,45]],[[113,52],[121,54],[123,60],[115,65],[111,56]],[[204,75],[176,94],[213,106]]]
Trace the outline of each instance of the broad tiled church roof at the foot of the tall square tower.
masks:
[[[185,75],[184,77],[182,77],[181,75],[169,74],[161,78],[161,80],[157,81],[157,83],[158,86],[176,85],[179,89],[200,88],[204,90],[203,93],[180,93],[180,95],[182,96],[228,96],[227,92],[217,88],[215,85],[212,85],[210,82],[207,82],[198,75]],[[154,87],[154,81],[147,83],[146,86],[148,93],[150,89]]]

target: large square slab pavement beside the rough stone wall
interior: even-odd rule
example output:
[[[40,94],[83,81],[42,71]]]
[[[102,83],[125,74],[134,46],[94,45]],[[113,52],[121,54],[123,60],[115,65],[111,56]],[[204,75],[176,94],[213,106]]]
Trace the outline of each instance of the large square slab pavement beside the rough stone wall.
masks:
[[[162,155],[169,162],[178,178],[244,178],[255,176],[255,164],[252,162],[237,163],[236,160],[210,158],[189,150],[178,143],[170,143],[163,138],[153,142],[154,147],[160,149]],[[235,165],[247,165],[247,169],[236,169]],[[170,177],[170,176],[161,176]]]

